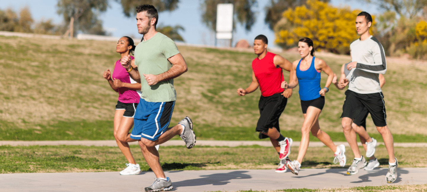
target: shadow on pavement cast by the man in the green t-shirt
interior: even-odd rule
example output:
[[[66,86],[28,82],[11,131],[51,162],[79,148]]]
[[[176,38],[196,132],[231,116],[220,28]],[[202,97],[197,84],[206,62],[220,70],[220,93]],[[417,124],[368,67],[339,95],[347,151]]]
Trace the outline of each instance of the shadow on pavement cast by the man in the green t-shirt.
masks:
[[[173,182],[175,189],[180,186],[202,186],[202,185],[225,185],[233,179],[250,179],[250,175],[244,174],[248,171],[234,171],[229,173],[216,173],[211,175],[200,175],[202,178]]]

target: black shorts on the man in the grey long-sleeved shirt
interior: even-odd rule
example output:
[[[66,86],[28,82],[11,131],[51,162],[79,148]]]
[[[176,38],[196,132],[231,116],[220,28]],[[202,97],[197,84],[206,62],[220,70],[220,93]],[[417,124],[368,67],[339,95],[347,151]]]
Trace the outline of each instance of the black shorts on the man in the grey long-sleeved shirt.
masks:
[[[342,117],[357,119],[363,115],[363,108],[371,113],[372,121],[377,127],[384,127],[386,123],[386,106],[383,93],[360,94],[351,90],[345,91],[345,102],[342,105]],[[357,124],[356,124],[357,125]]]

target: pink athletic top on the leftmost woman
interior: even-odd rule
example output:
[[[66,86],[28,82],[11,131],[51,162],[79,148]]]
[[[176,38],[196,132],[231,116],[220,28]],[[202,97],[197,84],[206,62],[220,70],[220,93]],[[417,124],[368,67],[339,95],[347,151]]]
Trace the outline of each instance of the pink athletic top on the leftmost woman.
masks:
[[[133,60],[134,57],[131,56]],[[131,77],[125,68],[120,64],[120,59],[116,61],[114,64],[113,75],[111,75],[111,79],[119,79],[123,83],[131,83]],[[133,79],[132,79],[133,80]],[[135,90],[130,90],[126,87],[119,88],[119,101],[122,103],[139,103],[140,96]]]

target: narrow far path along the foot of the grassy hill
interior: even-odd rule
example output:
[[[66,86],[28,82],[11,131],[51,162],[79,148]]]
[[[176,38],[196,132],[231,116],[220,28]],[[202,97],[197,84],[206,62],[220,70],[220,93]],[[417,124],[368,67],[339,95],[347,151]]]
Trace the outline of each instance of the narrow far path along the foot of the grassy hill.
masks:
[[[334,142],[336,145],[345,145],[349,147],[347,142]],[[137,142],[129,143],[129,145],[137,145]],[[293,147],[299,146],[299,141],[292,143]],[[115,140],[60,140],[60,141],[0,141],[0,145],[11,145],[11,146],[28,146],[28,145],[86,145],[86,146],[111,146],[117,147]],[[161,146],[171,145],[184,145],[182,140],[169,140]],[[196,146],[229,146],[236,147],[240,145],[260,145],[270,147],[270,141],[216,141],[216,140],[197,140]],[[384,143],[378,142],[377,145],[384,145]],[[427,147],[427,143],[394,143],[395,147]],[[323,147],[325,146],[322,142],[310,142],[309,147]]]

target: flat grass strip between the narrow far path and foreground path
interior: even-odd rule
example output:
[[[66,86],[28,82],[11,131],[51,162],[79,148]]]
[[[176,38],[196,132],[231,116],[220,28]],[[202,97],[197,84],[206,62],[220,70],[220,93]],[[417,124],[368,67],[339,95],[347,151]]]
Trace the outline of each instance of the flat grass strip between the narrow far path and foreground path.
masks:
[[[138,145],[131,145],[135,161],[141,170],[150,171]],[[361,149],[363,151],[363,149]],[[425,148],[395,148],[399,167],[425,167]],[[275,169],[277,153],[272,147],[259,145],[240,147],[161,146],[159,149],[164,170],[216,170],[216,169]],[[257,154],[257,155],[253,155]],[[290,158],[296,158],[298,148],[291,148]],[[375,156],[380,167],[388,167],[387,152],[377,147]],[[245,158],[241,158],[245,157]],[[80,145],[59,146],[0,146],[0,173],[32,172],[116,172],[127,163],[117,147]],[[308,148],[302,168],[341,168],[332,164],[333,152],[327,147]],[[347,167],[350,162],[347,162]]]

